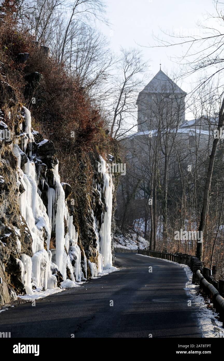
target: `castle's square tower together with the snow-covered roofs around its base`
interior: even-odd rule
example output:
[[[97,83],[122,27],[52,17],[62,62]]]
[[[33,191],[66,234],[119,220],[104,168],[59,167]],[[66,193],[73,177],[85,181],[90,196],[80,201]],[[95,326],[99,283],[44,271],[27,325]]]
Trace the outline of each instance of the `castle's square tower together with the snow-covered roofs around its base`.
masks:
[[[129,135],[124,141],[126,147],[129,148],[130,140],[133,140],[133,146],[133,143],[136,143],[134,138],[137,137],[139,143],[143,138],[157,135],[158,131],[173,133],[176,139],[182,139],[192,146],[198,136],[207,143],[217,124],[217,114],[209,118],[202,115],[190,121],[186,120],[186,95],[160,68],[137,97],[138,128],[135,134]]]

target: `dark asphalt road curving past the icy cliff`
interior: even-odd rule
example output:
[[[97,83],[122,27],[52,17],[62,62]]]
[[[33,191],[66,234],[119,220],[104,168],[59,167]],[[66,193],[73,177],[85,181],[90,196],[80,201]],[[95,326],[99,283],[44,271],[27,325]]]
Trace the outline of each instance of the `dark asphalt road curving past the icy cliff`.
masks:
[[[37,300],[35,307],[1,312],[0,331],[11,338],[202,337],[183,268],[133,253],[116,256],[124,267],[117,272]]]

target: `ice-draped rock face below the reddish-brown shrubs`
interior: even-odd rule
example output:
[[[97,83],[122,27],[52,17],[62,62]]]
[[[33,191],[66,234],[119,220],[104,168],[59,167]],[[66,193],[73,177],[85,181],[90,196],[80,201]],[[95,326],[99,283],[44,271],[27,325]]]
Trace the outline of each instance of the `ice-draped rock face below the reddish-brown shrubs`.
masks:
[[[8,108],[1,104],[4,130]],[[60,287],[66,279],[75,284],[113,264],[115,192],[104,158],[91,156],[92,191],[81,226],[53,142],[31,128],[28,109],[12,103],[10,111],[16,119],[11,139],[0,142],[0,305],[15,292]],[[86,182],[83,171],[80,184]]]

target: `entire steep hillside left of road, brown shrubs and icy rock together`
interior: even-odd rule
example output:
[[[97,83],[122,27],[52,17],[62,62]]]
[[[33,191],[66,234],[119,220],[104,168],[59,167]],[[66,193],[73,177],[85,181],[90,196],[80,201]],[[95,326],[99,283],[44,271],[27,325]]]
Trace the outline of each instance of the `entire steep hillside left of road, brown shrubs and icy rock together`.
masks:
[[[105,119],[45,46],[0,22],[0,305],[113,265],[118,157]],[[112,156],[111,156],[112,154]]]

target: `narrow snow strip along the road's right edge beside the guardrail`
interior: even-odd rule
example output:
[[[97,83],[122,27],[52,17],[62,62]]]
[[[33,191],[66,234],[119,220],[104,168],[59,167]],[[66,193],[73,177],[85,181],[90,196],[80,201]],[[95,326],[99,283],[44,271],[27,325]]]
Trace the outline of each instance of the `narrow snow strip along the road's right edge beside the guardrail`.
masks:
[[[139,255],[136,253],[136,255]],[[145,255],[139,255],[142,257],[156,258]],[[188,292],[189,296],[193,300],[194,305],[196,306],[197,316],[199,321],[199,326],[202,330],[203,338],[224,338],[224,329],[222,327],[222,322],[218,321],[218,314],[215,311],[212,311],[207,308],[204,298],[198,293],[199,286],[192,283],[192,271],[187,265],[182,265],[177,262],[163,260],[157,258],[158,260],[175,263],[180,267],[183,267],[186,275],[188,277],[188,282],[186,282],[185,291]],[[212,304],[211,304],[212,305]]]

